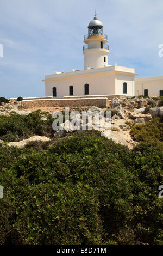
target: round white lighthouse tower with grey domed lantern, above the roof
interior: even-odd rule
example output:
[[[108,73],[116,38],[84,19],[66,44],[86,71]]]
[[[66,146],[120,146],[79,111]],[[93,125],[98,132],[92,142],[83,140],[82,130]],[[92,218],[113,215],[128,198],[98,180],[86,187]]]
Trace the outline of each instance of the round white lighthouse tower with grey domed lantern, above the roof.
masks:
[[[108,66],[109,45],[108,36],[103,34],[103,24],[95,13],[94,19],[89,23],[88,34],[84,35],[83,46],[84,69],[102,68]]]

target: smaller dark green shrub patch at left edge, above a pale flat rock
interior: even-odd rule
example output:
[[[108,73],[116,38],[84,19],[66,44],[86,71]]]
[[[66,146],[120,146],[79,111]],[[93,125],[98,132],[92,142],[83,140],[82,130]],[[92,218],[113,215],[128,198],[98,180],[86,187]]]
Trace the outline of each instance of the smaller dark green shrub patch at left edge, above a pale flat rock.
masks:
[[[47,120],[42,119],[42,114]],[[38,111],[28,115],[0,115],[0,139],[5,142],[22,141],[34,135],[53,136],[52,115]]]

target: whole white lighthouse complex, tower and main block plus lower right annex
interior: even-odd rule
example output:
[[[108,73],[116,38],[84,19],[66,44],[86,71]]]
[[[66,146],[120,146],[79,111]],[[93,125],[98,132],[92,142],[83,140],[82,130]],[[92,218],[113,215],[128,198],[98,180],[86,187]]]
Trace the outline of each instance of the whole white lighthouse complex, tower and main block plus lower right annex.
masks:
[[[136,78],[135,69],[108,65],[109,46],[103,24],[97,18],[89,23],[84,36],[84,70],[46,75],[46,96],[62,98],[84,95],[163,95],[163,77]]]

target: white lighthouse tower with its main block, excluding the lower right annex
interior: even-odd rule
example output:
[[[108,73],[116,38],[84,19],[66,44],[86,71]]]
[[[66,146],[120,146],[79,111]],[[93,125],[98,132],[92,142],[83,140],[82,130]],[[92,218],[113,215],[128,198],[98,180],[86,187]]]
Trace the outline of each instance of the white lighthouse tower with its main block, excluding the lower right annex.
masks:
[[[55,74],[45,76],[42,81],[45,81],[46,96],[62,99],[61,103],[56,103],[60,106],[100,105],[102,99],[111,100],[118,95],[134,96],[135,69],[108,65],[107,42],[103,23],[95,13],[88,26],[88,34],[84,35],[84,70],[73,68],[69,72],[55,71]]]

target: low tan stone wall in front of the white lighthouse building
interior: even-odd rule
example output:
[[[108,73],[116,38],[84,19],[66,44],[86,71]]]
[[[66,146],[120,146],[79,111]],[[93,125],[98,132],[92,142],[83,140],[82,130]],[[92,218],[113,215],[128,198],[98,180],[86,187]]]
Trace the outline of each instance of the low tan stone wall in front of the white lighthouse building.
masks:
[[[83,106],[103,106],[109,108],[111,101],[106,97],[96,97],[87,99],[44,99],[44,100],[23,100],[23,108],[36,107],[83,107]]]

